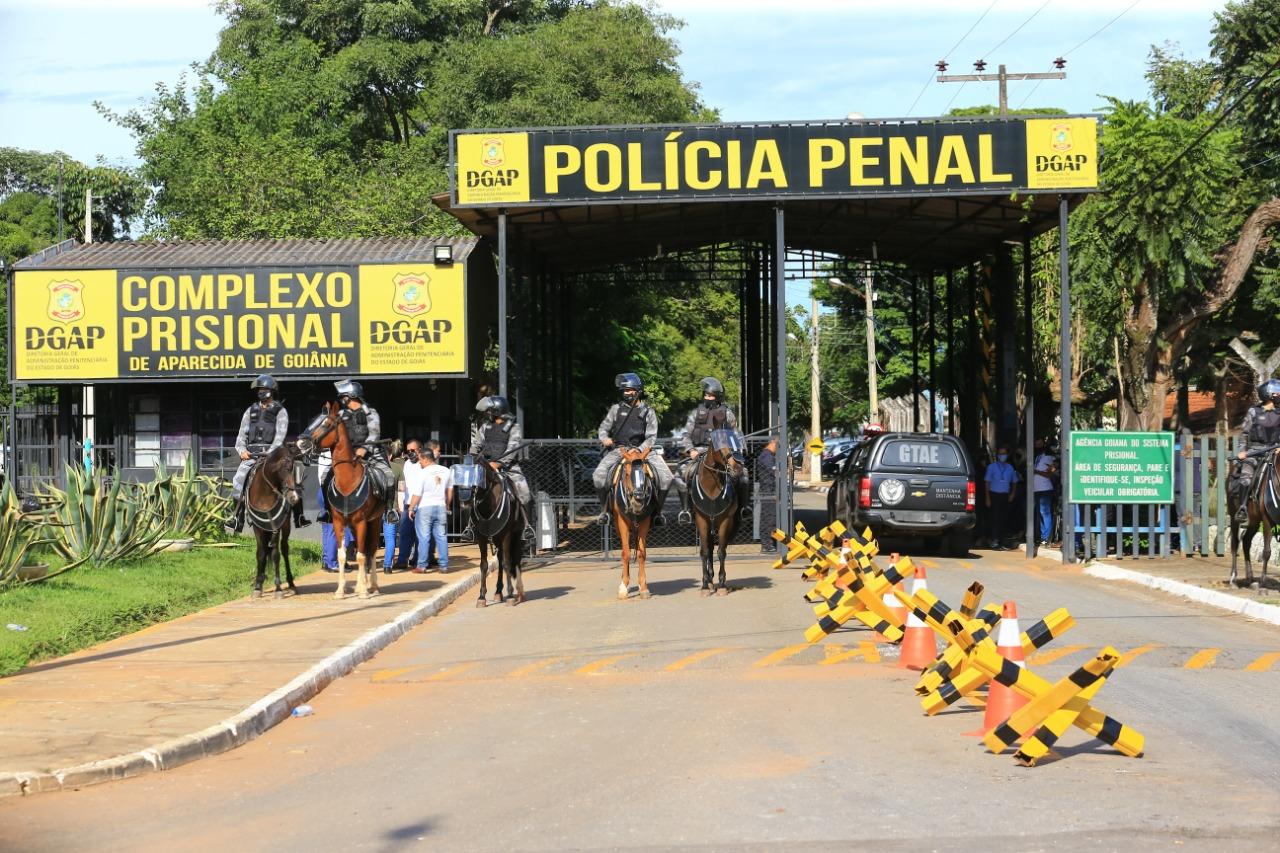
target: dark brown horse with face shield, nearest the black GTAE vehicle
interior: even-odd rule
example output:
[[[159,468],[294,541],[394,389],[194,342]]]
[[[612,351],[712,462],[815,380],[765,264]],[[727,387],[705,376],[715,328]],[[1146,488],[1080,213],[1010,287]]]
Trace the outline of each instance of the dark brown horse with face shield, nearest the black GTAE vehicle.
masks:
[[[703,558],[703,596],[727,596],[724,583],[724,552],[730,539],[737,533],[739,510],[744,506],[744,494],[737,493],[737,478],[742,464],[737,453],[742,450],[742,439],[728,429],[712,432],[712,443],[698,457],[690,476],[689,498],[698,525],[699,553]],[[712,533],[719,547],[719,583],[712,579]]]

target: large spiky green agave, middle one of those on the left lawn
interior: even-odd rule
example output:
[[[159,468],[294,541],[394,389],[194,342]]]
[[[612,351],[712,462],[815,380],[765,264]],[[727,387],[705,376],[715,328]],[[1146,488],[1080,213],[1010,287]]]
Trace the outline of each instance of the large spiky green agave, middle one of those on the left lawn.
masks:
[[[145,555],[165,532],[165,519],[148,506],[146,494],[119,471],[92,474],[67,466],[67,491],[49,487],[41,497],[50,506],[50,524],[58,529],[54,548],[69,562],[88,561],[101,566]]]

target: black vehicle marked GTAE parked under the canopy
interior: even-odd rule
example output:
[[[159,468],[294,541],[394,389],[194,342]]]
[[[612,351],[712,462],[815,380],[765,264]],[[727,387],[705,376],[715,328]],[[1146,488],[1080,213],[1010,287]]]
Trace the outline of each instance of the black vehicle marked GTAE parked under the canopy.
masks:
[[[975,497],[977,473],[959,438],[883,433],[850,456],[827,493],[827,510],[852,530],[934,538],[964,556]]]

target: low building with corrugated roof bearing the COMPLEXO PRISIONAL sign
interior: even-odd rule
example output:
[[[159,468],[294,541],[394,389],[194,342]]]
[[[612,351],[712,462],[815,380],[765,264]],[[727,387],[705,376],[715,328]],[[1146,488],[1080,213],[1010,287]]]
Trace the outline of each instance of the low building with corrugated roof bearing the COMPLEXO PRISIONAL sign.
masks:
[[[475,237],[67,241],[8,284],[10,382],[58,389],[49,444],[6,460],[26,488],[83,460],[145,480],[195,459],[229,478],[264,373],[291,435],[356,377],[387,437],[454,450],[495,325],[493,255]]]

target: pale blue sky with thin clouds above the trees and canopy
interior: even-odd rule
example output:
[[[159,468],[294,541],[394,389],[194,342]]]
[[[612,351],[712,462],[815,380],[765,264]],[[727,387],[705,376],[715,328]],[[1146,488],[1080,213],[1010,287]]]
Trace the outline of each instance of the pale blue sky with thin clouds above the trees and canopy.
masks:
[[[937,83],[975,59],[988,70],[1050,70],[1028,106],[1093,111],[1101,93],[1143,97],[1152,44],[1208,54],[1215,0],[659,0],[682,18],[681,67],[724,120],[938,115],[996,102],[995,83]],[[1130,8],[1132,6],[1132,8]],[[1096,31],[1107,24],[1101,33]],[[980,18],[980,22],[979,22]],[[977,27],[974,24],[977,23]],[[102,119],[140,106],[212,50],[221,19],[206,0],[0,0],[0,146],[134,163],[129,134]],[[1019,29],[1021,27],[1021,29]],[[1016,32],[1015,32],[1016,31]],[[1001,45],[1001,42],[1004,42]],[[1082,44],[1083,42],[1083,44]],[[1079,45],[1079,47],[1076,47]],[[1019,106],[1033,83],[1010,85]],[[918,100],[916,100],[918,99]],[[910,105],[915,102],[914,109]]]

